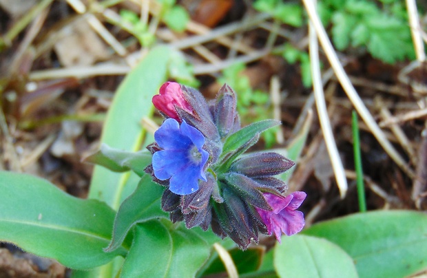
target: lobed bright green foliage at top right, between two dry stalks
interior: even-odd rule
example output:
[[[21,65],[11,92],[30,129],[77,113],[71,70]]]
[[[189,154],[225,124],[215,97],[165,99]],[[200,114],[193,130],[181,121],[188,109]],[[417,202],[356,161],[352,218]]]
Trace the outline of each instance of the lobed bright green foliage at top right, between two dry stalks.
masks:
[[[414,58],[415,52],[402,1],[326,0],[319,3],[325,23],[332,24],[337,50],[362,47],[385,63]]]

